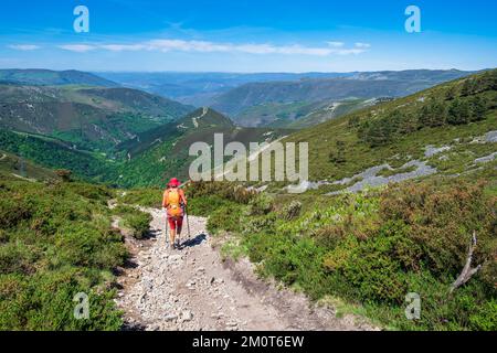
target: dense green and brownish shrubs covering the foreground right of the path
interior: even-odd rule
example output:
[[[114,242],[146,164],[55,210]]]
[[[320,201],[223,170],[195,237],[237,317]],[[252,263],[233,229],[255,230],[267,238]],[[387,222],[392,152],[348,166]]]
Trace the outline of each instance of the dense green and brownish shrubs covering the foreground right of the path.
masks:
[[[275,210],[281,200],[263,194],[247,206],[221,207],[208,226],[232,233],[231,252],[247,254],[262,276],[313,299],[361,302],[369,315],[401,330],[495,330],[497,207],[488,190],[457,179],[306,204],[302,196],[300,215],[289,217],[288,204]],[[478,237],[473,264],[483,264],[482,271],[450,296],[473,231]],[[408,292],[421,296],[420,320],[405,319]]]

